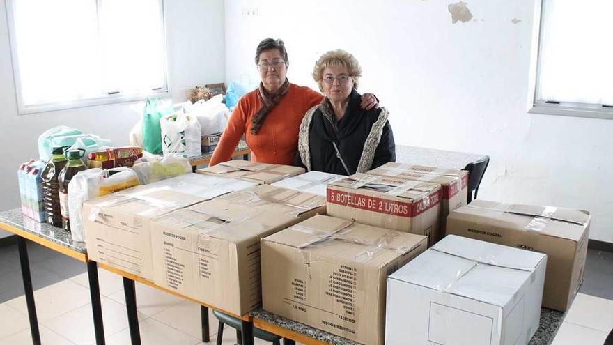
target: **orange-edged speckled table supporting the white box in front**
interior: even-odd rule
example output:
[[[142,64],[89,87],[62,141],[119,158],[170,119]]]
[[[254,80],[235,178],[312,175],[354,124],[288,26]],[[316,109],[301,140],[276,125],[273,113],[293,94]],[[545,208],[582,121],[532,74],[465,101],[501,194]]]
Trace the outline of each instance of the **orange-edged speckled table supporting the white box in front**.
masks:
[[[318,330],[309,325],[304,325],[304,323],[286,319],[283,316],[266,312],[263,309],[255,310],[249,315],[253,317],[254,327],[280,335],[286,339],[301,342],[302,344],[360,345],[352,340]],[[563,319],[563,312],[541,308],[541,323],[528,345],[551,344]]]

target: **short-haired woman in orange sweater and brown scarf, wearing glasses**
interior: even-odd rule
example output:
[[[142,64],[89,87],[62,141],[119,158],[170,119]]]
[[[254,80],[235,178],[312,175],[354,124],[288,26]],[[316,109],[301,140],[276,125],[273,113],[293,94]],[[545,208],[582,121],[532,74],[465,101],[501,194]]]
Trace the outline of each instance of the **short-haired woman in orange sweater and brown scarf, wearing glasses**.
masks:
[[[323,100],[320,93],[288,82],[289,61],[282,40],[263,40],[256,49],[256,65],[262,80],[260,87],[238,101],[210,166],[230,160],[242,135],[254,162],[291,165],[302,117]],[[377,104],[374,95],[362,96],[362,108],[371,109]]]

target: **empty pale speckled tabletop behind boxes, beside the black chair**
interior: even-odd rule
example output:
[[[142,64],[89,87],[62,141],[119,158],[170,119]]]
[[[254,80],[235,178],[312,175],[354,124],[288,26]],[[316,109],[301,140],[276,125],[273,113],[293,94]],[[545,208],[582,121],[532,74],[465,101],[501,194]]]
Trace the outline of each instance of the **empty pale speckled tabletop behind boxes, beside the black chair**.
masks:
[[[464,169],[467,164],[485,158],[486,155],[437,150],[416,146],[396,146],[396,162],[439,167],[444,169]]]

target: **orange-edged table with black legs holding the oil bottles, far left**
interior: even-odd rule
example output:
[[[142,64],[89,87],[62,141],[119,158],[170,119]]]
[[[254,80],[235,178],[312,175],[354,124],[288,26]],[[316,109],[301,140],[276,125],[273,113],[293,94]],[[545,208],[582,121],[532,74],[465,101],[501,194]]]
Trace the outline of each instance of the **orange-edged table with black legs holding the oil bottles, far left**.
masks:
[[[34,291],[32,289],[32,277],[30,275],[30,263],[26,240],[31,240],[51,250],[70,256],[72,259],[86,263],[96,344],[104,344],[104,325],[102,324],[102,307],[100,306],[98,268],[95,262],[87,259],[85,243],[73,242],[70,233],[64,229],[53,227],[47,223],[38,223],[34,220],[29,220],[28,217],[22,215],[20,208],[0,212],[0,229],[17,235],[17,247],[19,249],[32,343],[40,344],[40,332],[38,330],[38,318],[36,316],[36,305],[34,302]]]

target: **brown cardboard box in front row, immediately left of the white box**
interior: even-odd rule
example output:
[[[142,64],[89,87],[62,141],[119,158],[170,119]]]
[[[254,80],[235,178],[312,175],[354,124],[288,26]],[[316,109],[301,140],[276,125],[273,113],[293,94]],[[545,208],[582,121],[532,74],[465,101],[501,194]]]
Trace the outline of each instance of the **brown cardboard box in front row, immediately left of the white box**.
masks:
[[[318,215],[262,240],[263,308],[363,344],[384,344],[387,275],[426,237]]]

